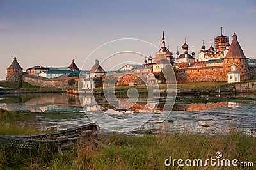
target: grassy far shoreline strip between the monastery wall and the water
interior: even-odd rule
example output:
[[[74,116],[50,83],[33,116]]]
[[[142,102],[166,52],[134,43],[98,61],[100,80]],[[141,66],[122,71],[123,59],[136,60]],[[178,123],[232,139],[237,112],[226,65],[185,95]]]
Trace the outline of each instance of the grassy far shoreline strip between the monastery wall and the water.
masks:
[[[25,84],[25,83],[24,83]],[[200,95],[211,95],[211,96],[221,96],[221,95],[243,95],[243,94],[255,94],[256,95],[256,80],[251,79],[249,81],[227,84],[225,82],[193,82],[193,83],[183,83],[177,84],[176,96],[200,96]],[[166,96],[166,84],[158,84],[159,91],[157,95]],[[108,87],[107,87],[108,88]],[[110,88],[110,87],[109,87]],[[115,86],[115,94],[127,96],[127,91],[129,88],[135,88],[139,91],[140,95],[147,95],[147,86],[136,85],[136,86]],[[176,88],[175,88],[176,89]],[[107,89],[108,90],[108,89]],[[31,86],[26,83],[26,87],[10,87],[10,88],[0,88],[1,95],[3,94],[22,94],[22,93],[68,93],[68,94],[92,94],[97,96],[104,95],[102,87],[95,88],[91,90],[79,91],[78,88],[39,88],[36,86]]]

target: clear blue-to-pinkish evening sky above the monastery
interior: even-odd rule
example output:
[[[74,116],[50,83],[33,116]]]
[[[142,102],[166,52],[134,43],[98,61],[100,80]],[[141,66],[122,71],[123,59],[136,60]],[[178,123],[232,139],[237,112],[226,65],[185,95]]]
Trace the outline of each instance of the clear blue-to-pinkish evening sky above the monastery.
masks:
[[[246,57],[256,57],[254,0],[0,0],[0,79],[6,78],[6,68],[15,55],[24,71],[35,65],[69,66],[72,59],[79,68],[84,65],[84,69],[90,70],[94,60],[99,59],[101,63],[111,54],[112,48],[86,58],[100,45],[113,40],[136,38],[159,49],[163,28],[166,45],[173,54],[177,46],[181,52],[186,38],[189,52],[195,47],[198,57],[202,40],[209,48],[210,39],[221,34],[220,27],[224,27],[223,35],[230,37],[230,43],[232,35],[237,34]],[[136,45],[120,43],[112,46],[125,50],[129,44]],[[149,51],[152,56],[157,52],[147,45],[136,47],[146,55]],[[102,66],[109,70],[113,67],[111,61],[121,58],[144,61],[143,57],[126,54],[109,59]]]

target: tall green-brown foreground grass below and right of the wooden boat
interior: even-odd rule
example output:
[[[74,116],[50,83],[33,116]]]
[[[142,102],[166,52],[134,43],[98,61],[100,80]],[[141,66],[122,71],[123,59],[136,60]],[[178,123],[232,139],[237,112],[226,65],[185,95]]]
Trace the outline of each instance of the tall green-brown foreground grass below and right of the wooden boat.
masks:
[[[112,134],[100,138],[109,148],[91,144],[86,149],[72,148],[58,155],[49,148],[35,152],[0,150],[0,168],[10,169],[166,169],[164,160],[182,158],[190,160],[215,158],[220,151],[222,158],[236,158],[239,162],[256,164],[256,140],[243,132],[228,135],[158,134],[142,137]],[[8,154],[6,154],[8,153]],[[172,166],[171,166],[172,167]],[[170,168],[170,167],[169,167]],[[177,164],[175,169],[178,169]],[[186,167],[202,169],[202,167]],[[208,164],[205,169],[212,169]],[[219,167],[225,169],[225,167]],[[226,167],[227,169],[230,167]],[[253,169],[253,167],[251,167]]]

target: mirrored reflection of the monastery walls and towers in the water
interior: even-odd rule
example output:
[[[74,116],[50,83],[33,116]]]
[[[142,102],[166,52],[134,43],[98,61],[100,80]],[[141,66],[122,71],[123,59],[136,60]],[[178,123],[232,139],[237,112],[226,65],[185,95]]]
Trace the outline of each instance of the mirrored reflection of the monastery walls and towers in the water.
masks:
[[[10,97],[6,97],[10,98]],[[31,98],[29,95],[25,95],[22,98]],[[79,97],[77,95],[65,95],[65,94],[42,94],[38,95],[38,97],[33,96],[30,100],[24,101],[20,97],[11,98],[10,102],[8,100],[4,100],[1,102],[0,107],[3,109],[17,110],[22,107],[24,111],[31,112],[74,112],[74,111],[82,111],[82,107],[84,107],[86,112],[92,113],[102,113],[106,112],[107,109],[113,109],[114,107],[102,98],[95,100],[92,95],[84,95],[83,97]],[[3,98],[4,99],[4,98]],[[23,100],[23,101],[22,101]],[[80,104],[81,100],[81,104]],[[127,98],[118,98],[120,102],[116,102],[115,104],[119,108],[125,108],[124,101]],[[15,105],[13,105],[15,102]],[[20,103],[20,105],[19,105]],[[19,107],[19,108],[18,108]],[[116,108],[117,108],[116,107]],[[165,107],[165,108],[164,108]],[[241,104],[238,102],[210,102],[210,103],[192,103],[192,104],[175,104],[172,108],[171,104],[164,104],[163,102],[150,101],[145,102],[143,100],[136,102],[136,104],[132,105],[129,109],[115,109],[118,112],[123,113],[162,113],[163,109],[165,111],[204,111],[204,110],[212,110],[216,108],[228,108],[228,107],[241,107]]]

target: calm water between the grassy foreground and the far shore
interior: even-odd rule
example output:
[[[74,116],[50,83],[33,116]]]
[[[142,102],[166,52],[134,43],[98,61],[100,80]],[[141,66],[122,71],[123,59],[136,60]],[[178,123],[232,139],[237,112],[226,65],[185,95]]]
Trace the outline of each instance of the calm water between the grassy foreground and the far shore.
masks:
[[[83,111],[81,104],[85,111]],[[147,104],[143,99],[140,99],[132,109],[128,109],[126,112],[124,110],[113,110],[104,98],[100,98],[96,102],[92,96],[84,96],[81,98],[81,104],[77,95],[61,93],[0,96],[1,108],[12,111],[35,112],[35,118],[38,120],[39,126],[42,128],[54,127],[58,130],[90,123],[92,122],[90,118],[100,120],[106,114],[111,118],[123,120],[137,116],[134,123],[129,124],[129,126],[132,126],[136,124],[136,121],[151,115],[150,112],[155,112],[155,114],[152,114],[152,118],[145,125],[123,133],[140,134],[150,129],[152,132],[175,132],[179,130],[179,132],[227,134],[233,128],[242,128],[250,134],[251,130],[255,133],[256,127],[255,102],[175,104],[173,111],[163,122],[159,122],[163,104],[156,105],[154,101],[148,106],[149,109],[143,110]],[[143,114],[140,114],[140,112],[143,112]],[[104,127],[118,129],[118,123],[106,119]],[[104,133],[108,130],[101,128],[100,132]]]

